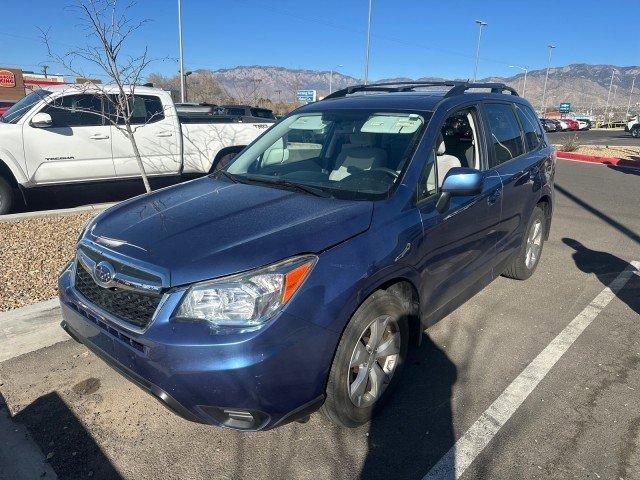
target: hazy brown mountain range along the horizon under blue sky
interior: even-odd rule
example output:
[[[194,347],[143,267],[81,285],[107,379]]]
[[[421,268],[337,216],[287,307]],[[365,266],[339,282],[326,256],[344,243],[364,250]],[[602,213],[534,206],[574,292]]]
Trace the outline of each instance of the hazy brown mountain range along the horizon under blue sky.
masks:
[[[611,74],[615,70],[613,86],[611,89],[609,104],[616,113],[624,113],[627,108],[631,93],[631,85],[634,78],[640,73],[638,66],[616,65],[589,65],[576,63],[562,67],[552,67],[549,70],[547,84],[547,108],[557,107],[560,102],[570,102],[574,111],[594,110],[603,111],[609,96]],[[213,71],[217,81],[233,96],[254,96],[256,99],[268,98],[272,101],[290,102],[295,98],[297,90],[317,90],[322,97],[329,93],[329,82],[335,91],[349,85],[362,83],[360,79],[344,75],[340,72],[328,70],[304,70],[290,69],[277,66],[238,66]],[[532,102],[536,108],[540,108],[542,90],[546,70],[532,70],[527,74],[527,82],[524,96]],[[373,80],[372,83],[385,81],[408,80],[442,80],[434,76],[422,76],[420,78],[386,78]],[[466,79],[458,79],[466,80]],[[524,73],[518,73],[511,77],[487,77],[478,81],[504,82],[516,88],[520,93],[523,90]],[[634,86],[631,108],[637,109],[640,104],[638,91],[640,85]]]

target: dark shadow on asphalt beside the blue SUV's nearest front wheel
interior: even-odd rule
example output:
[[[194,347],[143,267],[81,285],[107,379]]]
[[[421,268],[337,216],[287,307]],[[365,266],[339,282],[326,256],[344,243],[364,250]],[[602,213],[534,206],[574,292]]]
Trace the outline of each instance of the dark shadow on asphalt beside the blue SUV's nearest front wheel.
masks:
[[[455,444],[451,391],[457,368],[428,335],[409,350],[397,390],[371,420],[361,480],[420,479]],[[442,466],[442,465],[441,465]],[[454,479],[444,465],[441,479]]]

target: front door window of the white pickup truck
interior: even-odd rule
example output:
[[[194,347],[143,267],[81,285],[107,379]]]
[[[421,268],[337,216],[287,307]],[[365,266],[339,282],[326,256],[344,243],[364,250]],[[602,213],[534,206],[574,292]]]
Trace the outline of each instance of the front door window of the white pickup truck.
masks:
[[[102,125],[102,100],[97,95],[58,97],[41,112],[51,115],[53,127],[95,127]]]

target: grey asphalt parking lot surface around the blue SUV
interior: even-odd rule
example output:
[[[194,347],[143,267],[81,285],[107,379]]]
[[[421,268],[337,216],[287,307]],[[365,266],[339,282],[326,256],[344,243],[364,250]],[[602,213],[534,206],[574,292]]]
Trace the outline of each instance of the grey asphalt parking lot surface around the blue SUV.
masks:
[[[189,423],[73,341],[0,363],[0,393],[61,479],[638,479],[639,181],[559,160],[535,275],[497,279],[430,328],[387,408],[357,429],[320,414],[259,433]],[[558,336],[564,350],[514,403],[514,380],[531,384]],[[496,418],[504,392],[513,408]],[[479,421],[497,427],[469,437]]]

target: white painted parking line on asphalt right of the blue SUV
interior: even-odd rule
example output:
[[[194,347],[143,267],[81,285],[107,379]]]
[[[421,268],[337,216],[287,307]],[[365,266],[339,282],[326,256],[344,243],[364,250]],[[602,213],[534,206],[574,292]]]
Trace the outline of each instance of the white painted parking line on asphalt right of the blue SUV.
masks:
[[[640,262],[631,262],[608,287],[598,294],[567,325],[556,338],[511,382],[500,396],[487,408],[469,430],[436,463],[422,480],[460,478],[475,458],[495,437],[502,426],[518,410],[529,394],[549,373],[573,342],[593,322],[598,314],[613,300],[616,293],[640,269]]]

